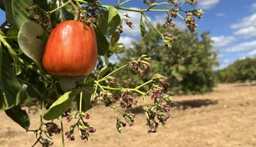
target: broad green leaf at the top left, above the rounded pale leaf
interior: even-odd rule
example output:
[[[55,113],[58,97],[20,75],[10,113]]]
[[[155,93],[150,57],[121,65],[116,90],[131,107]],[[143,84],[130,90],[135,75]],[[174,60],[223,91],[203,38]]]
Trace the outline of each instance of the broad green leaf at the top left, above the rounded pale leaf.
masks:
[[[22,0],[22,2],[19,0],[11,1],[12,14],[18,29],[21,28],[22,24],[30,21],[28,18],[29,13],[26,11],[26,8],[32,5],[34,5],[32,0]],[[36,31],[34,29],[31,30]]]

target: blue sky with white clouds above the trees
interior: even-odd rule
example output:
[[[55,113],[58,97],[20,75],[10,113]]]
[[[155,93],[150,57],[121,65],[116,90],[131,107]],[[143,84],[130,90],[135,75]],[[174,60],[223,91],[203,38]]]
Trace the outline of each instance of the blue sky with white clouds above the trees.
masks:
[[[166,0],[156,0],[156,2],[165,2]],[[117,5],[117,0],[101,0],[106,5]],[[179,0],[181,3],[182,0]],[[143,0],[131,0],[123,7],[128,8],[146,8]],[[166,8],[166,7],[160,7]],[[192,7],[185,7],[192,8]],[[256,2],[254,0],[198,0],[196,8],[204,11],[200,20],[196,19],[199,24],[197,31],[210,31],[212,41],[215,41],[213,50],[218,51],[218,60],[221,64],[218,68],[227,67],[235,60],[245,57],[256,56]],[[121,11],[126,14],[126,11]],[[123,25],[124,33],[120,38],[126,47],[131,47],[132,40],[138,41],[140,38],[138,13],[129,12],[130,19],[135,28],[132,30],[125,24]],[[146,15],[154,24],[165,21],[165,13],[148,12]],[[4,11],[0,11],[0,23],[5,21]],[[176,25],[184,27],[182,19],[176,18]],[[115,57],[113,57],[115,60]]]

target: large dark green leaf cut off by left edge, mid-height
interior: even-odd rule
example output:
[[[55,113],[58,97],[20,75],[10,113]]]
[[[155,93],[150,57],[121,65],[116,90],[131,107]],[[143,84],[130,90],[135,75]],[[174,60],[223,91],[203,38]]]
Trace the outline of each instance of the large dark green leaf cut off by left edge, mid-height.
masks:
[[[10,66],[8,54],[0,43],[0,109],[5,110],[18,105],[16,98],[19,83],[15,77],[14,67]]]

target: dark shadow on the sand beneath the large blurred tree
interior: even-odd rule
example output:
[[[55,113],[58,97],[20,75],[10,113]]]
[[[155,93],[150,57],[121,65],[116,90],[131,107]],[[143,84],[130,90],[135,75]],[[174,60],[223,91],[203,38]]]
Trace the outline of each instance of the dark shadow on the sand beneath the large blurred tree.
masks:
[[[209,105],[215,105],[218,104],[218,100],[182,100],[182,101],[176,101],[171,107],[176,107],[177,109],[188,109],[188,108],[197,108],[201,106],[209,106]],[[144,113],[144,110],[140,107],[134,107],[132,109],[129,109],[132,113],[139,114]]]

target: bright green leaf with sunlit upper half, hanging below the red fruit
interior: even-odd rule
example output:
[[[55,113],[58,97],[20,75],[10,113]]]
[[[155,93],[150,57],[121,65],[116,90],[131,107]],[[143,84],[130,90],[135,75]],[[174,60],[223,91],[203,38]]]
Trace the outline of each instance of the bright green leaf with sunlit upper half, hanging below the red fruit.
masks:
[[[44,114],[45,120],[57,119],[58,116],[61,116],[68,106],[71,105],[74,100],[74,96],[77,95],[77,90],[69,91],[64,93],[63,96],[59,97]]]

